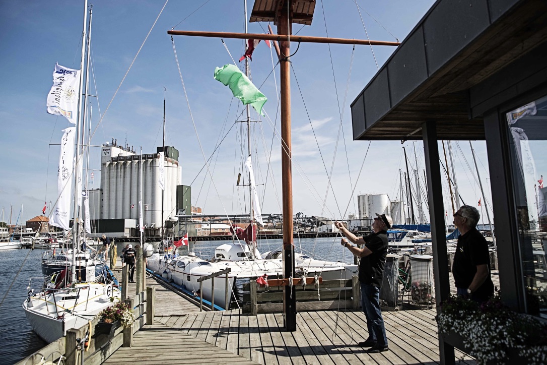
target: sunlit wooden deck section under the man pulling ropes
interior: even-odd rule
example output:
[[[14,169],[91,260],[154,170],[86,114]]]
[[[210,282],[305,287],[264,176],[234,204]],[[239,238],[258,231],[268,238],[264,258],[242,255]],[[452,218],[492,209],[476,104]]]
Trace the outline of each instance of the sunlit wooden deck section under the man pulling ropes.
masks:
[[[438,363],[439,344],[434,310],[383,313],[390,351],[368,354],[360,311],[299,312],[298,329],[285,332],[282,314],[248,316],[240,310],[202,312],[157,320],[183,334],[204,340],[261,364],[416,364]],[[473,364],[456,350],[458,363]]]

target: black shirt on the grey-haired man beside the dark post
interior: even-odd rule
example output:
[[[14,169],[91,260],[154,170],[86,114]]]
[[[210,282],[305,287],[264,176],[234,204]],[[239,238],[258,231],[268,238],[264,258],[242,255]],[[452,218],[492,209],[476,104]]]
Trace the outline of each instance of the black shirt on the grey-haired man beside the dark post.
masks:
[[[458,245],[456,246],[454,263],[452,264],[452,274],[457,288],[469,288],[477,272],[477,265],[488,266],[488,277],[475,290],[473,297],[485,300],[494,293],[494,284],[490,277],[490,255],[488,254],[486,239],[478,230],[473,228],[458,237]]]

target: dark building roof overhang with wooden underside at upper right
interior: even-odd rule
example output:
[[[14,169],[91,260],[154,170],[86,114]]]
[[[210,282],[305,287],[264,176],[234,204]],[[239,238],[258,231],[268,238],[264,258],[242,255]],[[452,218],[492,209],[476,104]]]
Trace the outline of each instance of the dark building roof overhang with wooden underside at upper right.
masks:
[[[439,0],[352,102],[354,140],[484,140],[484,82],[547,40],[544,0]],[[483,85],[480,85],[483,83]]]

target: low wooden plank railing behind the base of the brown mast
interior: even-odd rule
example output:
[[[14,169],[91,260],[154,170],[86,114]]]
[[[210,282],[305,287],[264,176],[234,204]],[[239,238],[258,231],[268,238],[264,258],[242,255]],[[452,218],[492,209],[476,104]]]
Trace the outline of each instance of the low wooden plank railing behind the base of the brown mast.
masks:
[[[243,284],[242,310],[251,315],[283,310],[283,287],[288,279],[269,280],[269,286],[258,285],[256,280]],[[344,280],[320,281],[318,287],[313,277],[308,277],[306,286],[301,278],[293,279],[296,289],[296,310],[357,309],[360,306],[360,289],[357,276]],[[247,304],[248,303],[248,304]]]

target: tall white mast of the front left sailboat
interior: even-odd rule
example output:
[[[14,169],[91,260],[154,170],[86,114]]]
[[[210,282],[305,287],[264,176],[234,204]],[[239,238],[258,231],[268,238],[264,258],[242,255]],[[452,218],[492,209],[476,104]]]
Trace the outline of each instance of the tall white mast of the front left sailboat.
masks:
[[[80,57],[80,92],[78,96],[78,118],[76,118],[76,156],[75,156],[75,162],[74,162],[74,172],[76,176],[74,177],[74,216],[72,221],[72,266],[71,266],[71,282],[76,282],[76,247],[78,245],[78,195],[80,195],[80,199],[82,198],[81,194],[78,193],[78,166],[79,166],[79,150],[80,150],[80,129],[82,124],[82,94],[83,94],[83,81],[84,81],[84,60],[85,60],[85,28],[88,21],[88,0],[84,0],[84,24],[82,27],[82,56]],[[72,174],[74,175],[74,173]]]

